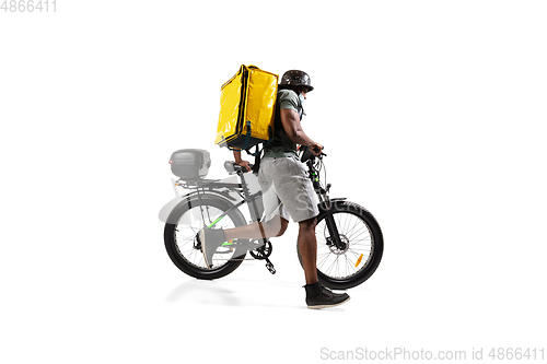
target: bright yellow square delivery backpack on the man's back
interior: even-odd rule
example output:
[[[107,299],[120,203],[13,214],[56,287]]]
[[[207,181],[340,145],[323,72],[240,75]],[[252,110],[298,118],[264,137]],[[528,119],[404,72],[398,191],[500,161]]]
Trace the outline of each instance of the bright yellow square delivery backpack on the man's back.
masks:
[[[242,64],[220,89],[216,144],[248,150],[274,139],[278,75]]]

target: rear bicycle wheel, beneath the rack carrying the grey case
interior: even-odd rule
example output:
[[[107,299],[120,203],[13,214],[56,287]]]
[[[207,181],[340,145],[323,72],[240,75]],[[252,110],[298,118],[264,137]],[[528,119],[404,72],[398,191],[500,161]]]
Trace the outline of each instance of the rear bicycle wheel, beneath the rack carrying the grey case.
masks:
[[[210,226],[226,211],[228,214],[216,223],[214,228],[245,225],[241,211],[216,196],[185,200],[173,209],[165,224],[164,242],[171,260],[178,269],[197,279],[212,280],[228,275],[240,267],[246,250],[221,246],[212,257],[212,268],[208,269],[196,239],[201,228]]]

